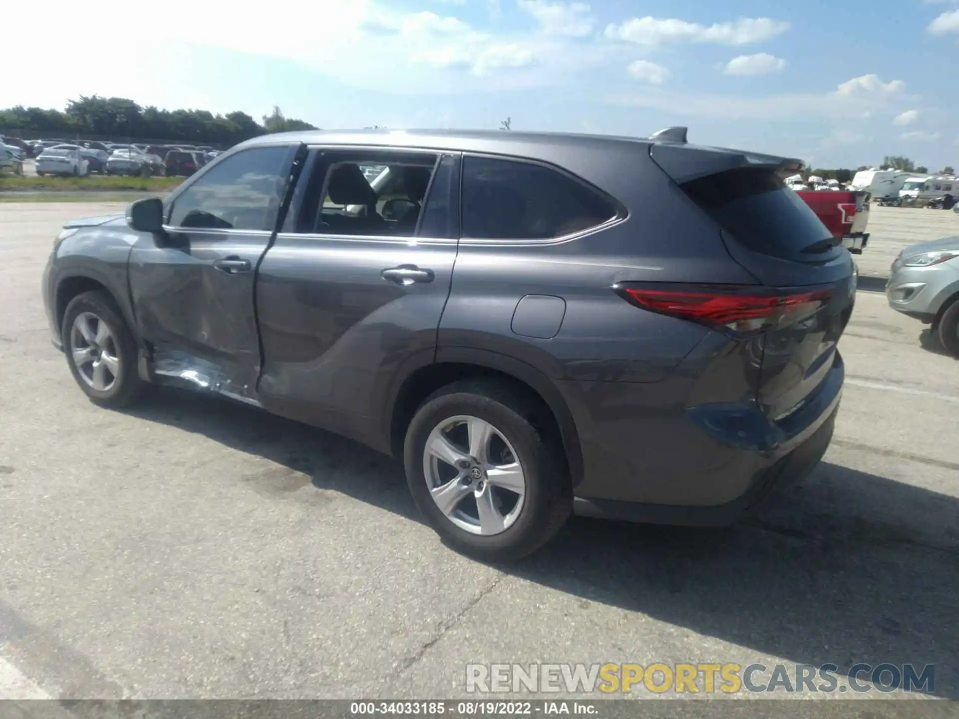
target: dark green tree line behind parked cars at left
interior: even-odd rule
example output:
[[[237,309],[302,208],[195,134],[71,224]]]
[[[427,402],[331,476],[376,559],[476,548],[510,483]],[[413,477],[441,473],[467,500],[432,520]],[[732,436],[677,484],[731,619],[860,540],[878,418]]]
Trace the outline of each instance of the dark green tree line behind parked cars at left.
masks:
[[[97,136],[104,139],[174,140],[194,145],[229,147],[257,135],[288,130],[317,129],[310,123],[283,115],[273,107],[270,115],[257,122],[246,112],[214,114],[207,110],[142,107],[126,98],[81,96],[64,110],[15,105],[0,109],[0,130],[70,137]]]

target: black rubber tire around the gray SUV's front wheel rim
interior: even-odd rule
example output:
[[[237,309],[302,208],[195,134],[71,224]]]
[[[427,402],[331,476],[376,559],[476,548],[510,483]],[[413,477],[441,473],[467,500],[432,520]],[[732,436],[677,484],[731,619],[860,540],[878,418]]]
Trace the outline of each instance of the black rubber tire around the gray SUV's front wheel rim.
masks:
[[[70,353],[70,332],[74,320],[80,313],[93,313],[101,321],[106,322],[106,326],[110,328],[116,344],[120,376],[105,392],[94,389],[82,380],[80,371],[77,369]],[[70,372],[73,374],[73,379],[95,405],[119,409],[135,402],[143,392],[146,383],[140,379],[136,372],[136,340],[133,338],[123,314],[120,313],[113,298],[105,290],[83,292],[70,300],[70,303],[66,306],[66,312],[63,313],[60,338],[63,342],[63,350],[66,353],[66,361],[70,367]]]

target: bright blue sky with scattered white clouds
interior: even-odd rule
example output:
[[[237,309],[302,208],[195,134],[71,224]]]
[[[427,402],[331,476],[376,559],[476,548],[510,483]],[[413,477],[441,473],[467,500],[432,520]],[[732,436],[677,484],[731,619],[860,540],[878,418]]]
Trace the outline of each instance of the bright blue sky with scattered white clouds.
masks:
[[[99,94],[255,117],[278,104],[321,128],[687,125],[693,142],[820,167],[959,166],[959,0],[92,0],[82,14],[130,42],[45,23],[79,42],[69,63],[37,51],[35,13],[16,6],[5,24],[36,32],[6,41],[27,62],[0,82],[3,106]]]

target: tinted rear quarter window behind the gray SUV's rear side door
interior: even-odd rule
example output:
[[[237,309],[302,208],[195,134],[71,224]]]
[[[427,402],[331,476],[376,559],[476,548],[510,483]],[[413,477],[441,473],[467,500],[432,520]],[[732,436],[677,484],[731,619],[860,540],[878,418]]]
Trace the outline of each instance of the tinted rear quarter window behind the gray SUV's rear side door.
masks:
[[[520,160],[463,158],[464,238],[550,240],[616,214],[610,201],[557,170]]]

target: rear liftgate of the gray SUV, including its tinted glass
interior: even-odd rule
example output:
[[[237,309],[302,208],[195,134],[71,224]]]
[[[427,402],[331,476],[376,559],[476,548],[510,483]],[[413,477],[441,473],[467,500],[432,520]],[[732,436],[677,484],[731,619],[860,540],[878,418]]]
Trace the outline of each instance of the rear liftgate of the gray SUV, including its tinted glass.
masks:
[[[776,168],[739,167],[681,187],[722,228],[730,254],[762,292],[778,298],[762,334],[757,399],[770,417],[784,419],[837,358],[855,300],[852,257]]]

